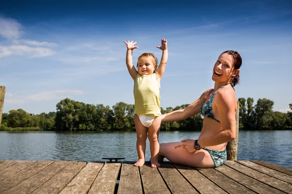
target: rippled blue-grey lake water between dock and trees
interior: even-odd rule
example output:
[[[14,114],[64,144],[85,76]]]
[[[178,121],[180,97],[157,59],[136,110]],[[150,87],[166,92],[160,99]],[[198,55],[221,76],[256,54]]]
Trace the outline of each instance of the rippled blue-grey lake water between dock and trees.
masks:
[[[161,131],[160,143],[196,139],[200,132]],[[237,160],[265,161],[292,169],[292,130],[239,131]],[[136,161],[135,132],[0,132],[0,160]],[[150,159],[149,142],[146,160]],[[122,160],[123,161],[123,160]]]

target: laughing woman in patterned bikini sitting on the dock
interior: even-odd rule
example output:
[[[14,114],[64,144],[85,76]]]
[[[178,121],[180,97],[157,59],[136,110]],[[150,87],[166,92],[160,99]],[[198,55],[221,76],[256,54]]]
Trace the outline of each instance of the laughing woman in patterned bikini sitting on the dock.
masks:
[[[227,142],[236,137],[237,98],[234,85],[239,81],[242,60],[237,51],[223,52],[213,68],[214,89],[206,90],[187,108],[161,115],[161,122],[174,122],[194,114],[204,116],[201,134],[197,140],[160,144],[159,161],[196,168],[213,168],[227,160]]]

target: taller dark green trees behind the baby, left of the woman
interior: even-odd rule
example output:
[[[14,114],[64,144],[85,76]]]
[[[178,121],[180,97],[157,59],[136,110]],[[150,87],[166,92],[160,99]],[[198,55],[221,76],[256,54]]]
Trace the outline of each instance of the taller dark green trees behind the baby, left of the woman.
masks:
[[[162,113],[183,109],[188,104],[161,108]],[[71,100],[61,100],[57,105],[55,117],[56,130],[135,130],[134,105],[118,102],[110,108],[102,104],[92,105]],[[184,121],[163,123],[161,130],[201,129],[202,118],[194,115]]]

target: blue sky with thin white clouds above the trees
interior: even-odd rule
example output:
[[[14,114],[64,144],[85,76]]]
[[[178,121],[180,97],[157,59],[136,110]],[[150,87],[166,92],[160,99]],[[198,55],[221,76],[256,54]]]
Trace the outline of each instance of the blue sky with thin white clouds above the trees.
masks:
[[[3,113],[56,111],[66,97],[110,107],[134,104],[124,40],[169,58],[161,106],[190,104],[214,87],[219,54],[236,50],[243,63],[237,98],[268,98],[274,111],[292,103],[292,1],[48,1],[10,0],[0,6]]]

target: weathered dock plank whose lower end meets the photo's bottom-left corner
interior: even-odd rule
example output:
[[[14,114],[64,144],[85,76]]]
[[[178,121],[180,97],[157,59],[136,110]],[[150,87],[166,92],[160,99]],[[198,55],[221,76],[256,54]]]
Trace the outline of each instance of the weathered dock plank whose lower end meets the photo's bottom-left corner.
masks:
[[[15,187],[16,185],[20,184],[24,180],[32,177],[37,172],[47,167],[50,163],[51,163],[50,161],[36,162],[33,165],[25,168],[24,170],[19,171],[18,173],[0,181],[0,193],[9,190]]]

